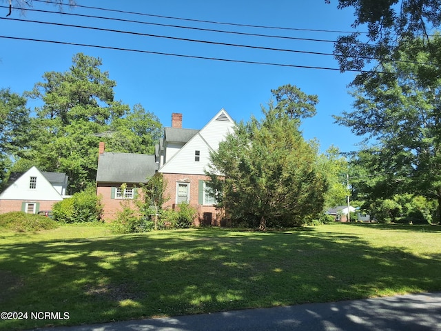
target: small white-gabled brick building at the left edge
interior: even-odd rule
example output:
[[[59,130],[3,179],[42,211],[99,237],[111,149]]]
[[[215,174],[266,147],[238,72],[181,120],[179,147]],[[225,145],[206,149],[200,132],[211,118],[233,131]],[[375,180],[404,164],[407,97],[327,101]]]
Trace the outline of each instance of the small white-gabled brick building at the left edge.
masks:
[[[10,185],[0,194],[0,213],[51,210],[66,197],[67,187],[68,176],[62,172],[43,172],[33,166],[24,173],[11,174]]]

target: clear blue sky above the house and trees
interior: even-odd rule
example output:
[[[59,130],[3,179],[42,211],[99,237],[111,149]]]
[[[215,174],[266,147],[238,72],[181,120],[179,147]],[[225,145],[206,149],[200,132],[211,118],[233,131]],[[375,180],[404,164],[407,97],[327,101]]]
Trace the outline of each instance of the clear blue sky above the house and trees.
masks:
[[[8,1],[0,3],[6,6]],[[354,19],[352,9],[336,8],[336,0],[331,1],[329,5],[325,4],[325,0],[76,0],[76,3],[79,6],[166,17],[311,30],[353,31],[351,23]],[[58,10],[57,7],[36,1],[33,3],[33,9]],[[338,35],[342,34],[229,26],[81,7],[64,8],[63,11],[68,14],[87,14],[172,26],[329,41],[336,40]],[[3,37],[82,43],[194,57],[338,68],[334,57],[326,55],[219,46],[136,34],[50,26],[29,21],[74,24],[265,48],[332,53],[334,44],[325,41],[255,37],[34,11],[28,11],[23,16],[14,10],[10,19],[5,19],[7,13],[7,8],[0,8],[0,36]],[[25,21],[15,21],[16,19]],[[353,72],[342,74],[338,70],[234,63],[0,38],[0,88],[10,88],[18,93],[31,90],[34,83],[42,81],[44,72],[68,70],[72,64],[72,56],[77,52],[100,57],[103,60],[102,70],[107,70],[110,79],[117,83],[115,99],[130,106],[141,103],[146,110],[158,116],[163,126],[170,126],[172,112],[183,114],[185,128],[202,128],[221,108],[225,108],[236,121],[247,121],[252,115],[259,118],[260,105],[267,104],[271,97],[271,89],[289,83],[298,86],[307,94],[318,94],[320,102],[316,117],[305,119],[302,124],[306,139],[318,139],[322,151],[334,145],[343,152],[356,150],[356,143],[361,141],[361,138],[351,134],[348,128],[334,124],[331,117],[332,114],[340,114],[343,110],[351,110],[353,99],[347,93],[347,84],[353,79]],[[30,106],[33,105],[30,103]]]

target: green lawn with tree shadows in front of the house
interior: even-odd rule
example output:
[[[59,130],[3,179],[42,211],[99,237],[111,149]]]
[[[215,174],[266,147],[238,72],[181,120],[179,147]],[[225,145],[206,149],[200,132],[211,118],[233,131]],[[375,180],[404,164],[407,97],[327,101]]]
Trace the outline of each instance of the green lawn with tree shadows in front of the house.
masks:
[[[1,330],[441,290],[441,228],[332,224],[283,232],[110,235],[103,225],[0,232]]]

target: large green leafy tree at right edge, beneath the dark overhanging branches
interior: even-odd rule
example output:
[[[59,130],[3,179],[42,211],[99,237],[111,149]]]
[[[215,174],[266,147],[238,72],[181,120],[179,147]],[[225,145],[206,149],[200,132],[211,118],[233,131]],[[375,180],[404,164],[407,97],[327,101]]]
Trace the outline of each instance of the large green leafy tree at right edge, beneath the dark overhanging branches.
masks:
[[[440,35],[429,40],[440,52]],[[441,205],[441,66],[438,53],[421,51],[422,42],[402,41],[397,51],[402,61],[383,63],[385,73],[357,83],[354,110],[336,121],[375,139],[376,147],[362,157],[383,179],[374,188],[384,198],[413,192]]]

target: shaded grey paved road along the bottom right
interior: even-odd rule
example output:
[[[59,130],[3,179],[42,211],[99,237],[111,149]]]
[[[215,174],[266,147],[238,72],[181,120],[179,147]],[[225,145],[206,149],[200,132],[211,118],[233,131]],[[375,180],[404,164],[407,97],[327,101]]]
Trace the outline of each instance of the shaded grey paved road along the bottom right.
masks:
[[[143,319],[44,331],[429,331],[441,330],[441,292],[307,303],[163,319]]]

